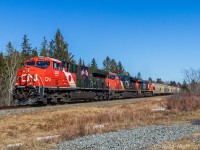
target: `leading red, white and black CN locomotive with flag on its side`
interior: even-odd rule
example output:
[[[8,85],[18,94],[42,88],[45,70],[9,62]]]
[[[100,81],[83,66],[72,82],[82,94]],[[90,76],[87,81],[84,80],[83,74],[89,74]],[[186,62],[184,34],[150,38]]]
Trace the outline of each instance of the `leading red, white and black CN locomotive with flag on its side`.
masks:
[[[14,100],[19,104],[79,99],[107,99],[107,74],[86,66],[38,56],[29,58],[17,72]]]

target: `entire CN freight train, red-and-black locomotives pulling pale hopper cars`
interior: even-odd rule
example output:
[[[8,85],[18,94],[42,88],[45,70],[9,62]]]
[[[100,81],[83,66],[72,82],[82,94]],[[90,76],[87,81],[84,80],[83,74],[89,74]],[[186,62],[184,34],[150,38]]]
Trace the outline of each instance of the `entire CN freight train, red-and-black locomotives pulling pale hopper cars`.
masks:
[[[38,56],[17,72],[17,105],[109,100],[179,92],[179,88]]]

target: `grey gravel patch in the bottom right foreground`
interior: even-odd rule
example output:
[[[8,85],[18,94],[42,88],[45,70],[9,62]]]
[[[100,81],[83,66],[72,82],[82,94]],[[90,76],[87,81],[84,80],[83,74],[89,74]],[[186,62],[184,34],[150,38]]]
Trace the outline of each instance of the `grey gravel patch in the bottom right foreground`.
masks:
[[[133,150],[149,149],[162,142],[175,141],[200,132],[200,125],[153,125],[117,132],[84,136],[75,140],[62,142],[58,150],[95,149],[95,150]]]

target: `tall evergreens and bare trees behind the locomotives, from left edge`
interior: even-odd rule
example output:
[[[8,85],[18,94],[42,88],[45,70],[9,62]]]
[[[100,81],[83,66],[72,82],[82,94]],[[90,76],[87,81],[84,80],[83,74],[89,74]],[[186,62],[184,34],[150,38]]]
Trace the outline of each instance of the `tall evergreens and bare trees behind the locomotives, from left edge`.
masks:
[[[38,55],[47,56],[60,61],[89,66],[92,69],[100,69],[95,58],[89,64],[85,64],[81,58],[76,62],[74,55],[69,51],[69,44],[65,41],[59,29],[57,29],[53,39],[50,41],[44,37],[39,49],[32,46],[26,34],[22,38],[20,48],[17,49],[13,46],[12,42],[8,42],[5,49],[5,53],[3,53],[3,50],[0,52],[0,105],[10,105],[12,92],[17,79],[17,70],[23,67],[27,58]],[[129,75],[121,61],[117,62],[109,56],[103,61],[103,68],[101,69],[107,72]]]

